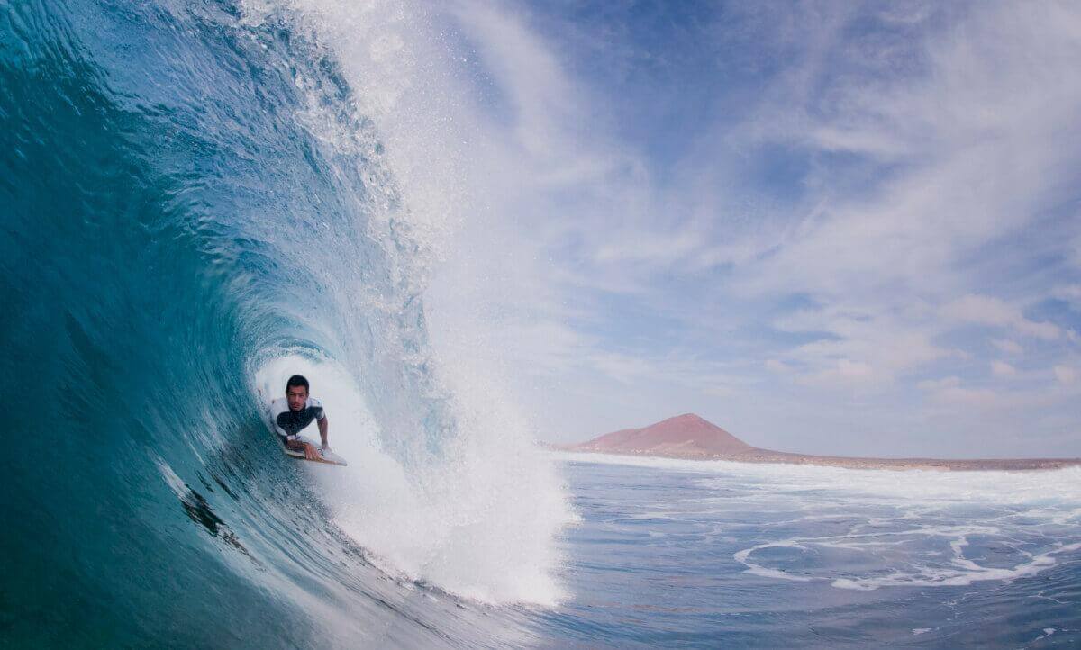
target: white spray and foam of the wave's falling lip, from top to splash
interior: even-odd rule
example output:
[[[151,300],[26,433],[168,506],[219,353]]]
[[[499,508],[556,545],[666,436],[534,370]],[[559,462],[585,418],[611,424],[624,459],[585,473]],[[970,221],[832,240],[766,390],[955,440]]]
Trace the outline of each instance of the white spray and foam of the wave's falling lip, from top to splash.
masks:
[[[289,375],[306,374],[328,407],[331,445],[350,463],[298,471],[319,482],[335,522],[388,570],[480,600],[555,604],[563,595],[553,579],[562,563],[556,537],[575,520],[555,463],[533,447],[529,422],[486,368],[431,353],[425,315],[413,309],[477,204],[467,189],[476,154],[463,108],[470,99],[448,73],[453,48],[422,3],[242,6],[249,25],[288,21],[302,37],[297,46],[310,41],[312,57],[332,59],[348,82],[349,106],[328,110],[319,84],[295,72],[308,96],[296,118],[329,153],[328,164],[362,167],[334,170],[350,178],[359,172],[364,182],[358,232],[342,239],[379,246],[386,265],[387,277],[365,282],[349,266],[356,252],[328,238],[333,254],[319,252],[326,263],[310,266],[339,310],[336,321],[313,326],[333,328],[326,335],[341,342],[341,361],[291,357],[257,373],[256,383],[276,395]],[[338,108],[356,124],[344,123]],[[358,385],[336,363],[371,369],[359,377],[369,383]],[[450,431],[419,431],[427,423],[417,406],[437,402],[452,414]],[[442,436],[435,452],[429,434]],[[391,449],[398,443],[402,448]]]

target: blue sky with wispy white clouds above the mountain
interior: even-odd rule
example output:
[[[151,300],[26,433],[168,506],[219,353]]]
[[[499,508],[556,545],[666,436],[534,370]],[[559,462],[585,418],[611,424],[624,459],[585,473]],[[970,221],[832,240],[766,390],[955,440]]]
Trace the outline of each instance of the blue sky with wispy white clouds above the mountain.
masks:
[[[470,198],[432,338],[539,438],[1081,456],[1081,5],[432,11]]]

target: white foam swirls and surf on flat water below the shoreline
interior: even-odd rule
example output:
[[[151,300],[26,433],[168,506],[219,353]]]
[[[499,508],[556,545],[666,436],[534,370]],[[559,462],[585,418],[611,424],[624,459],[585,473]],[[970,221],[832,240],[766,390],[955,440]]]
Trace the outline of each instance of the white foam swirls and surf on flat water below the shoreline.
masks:
[[[718,511],[772,515],[758,527],[766,536],[793,524],[813,527],[816,522],[836,522],[830,534],[759,540],[733,555],[748,573],[771,579],[825,581],[837,588],[860,591],[960,586],[1035,575],[1081,550],[1078,468],[895,472],[596,453],[553,456],[684,475],[699,490],[666,504],[665,516],[675,519],[699,519]],[[836,533],[837,525],[844,531]],[[1064,526],[1073,530],[1063,530]],[[1056,537],[1059,541],[1053,542]],[[1007,566],[989,566],[978,553],[971,553],[977,539],[980,547],[985,542],[998,546],[996,564]],[[769,555],[762,553],[768,549],[791,549],[818,561],[835,555],[819,551],[833,550],[842,558],[858,554],[859,561],[837,559],[786,571],[771,566]]]

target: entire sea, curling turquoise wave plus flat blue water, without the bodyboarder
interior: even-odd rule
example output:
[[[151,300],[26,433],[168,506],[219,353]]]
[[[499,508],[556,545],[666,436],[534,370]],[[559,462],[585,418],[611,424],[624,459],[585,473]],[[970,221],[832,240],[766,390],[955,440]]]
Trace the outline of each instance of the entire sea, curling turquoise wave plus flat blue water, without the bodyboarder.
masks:
[[[551,453],[437,352],[484,209],[440,25],[0,1],[0,646],[1081,642],[1076,470]],[[294,373],[348,468],[267,431]]]

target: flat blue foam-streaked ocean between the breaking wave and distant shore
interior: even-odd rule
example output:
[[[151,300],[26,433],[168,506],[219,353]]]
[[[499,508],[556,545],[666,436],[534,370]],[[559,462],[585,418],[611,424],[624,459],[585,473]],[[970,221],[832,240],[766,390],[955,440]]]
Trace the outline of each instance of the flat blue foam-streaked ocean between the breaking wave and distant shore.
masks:
[[[1081,645],[1081,469],[560,458],[583,522],[552,646]]]

